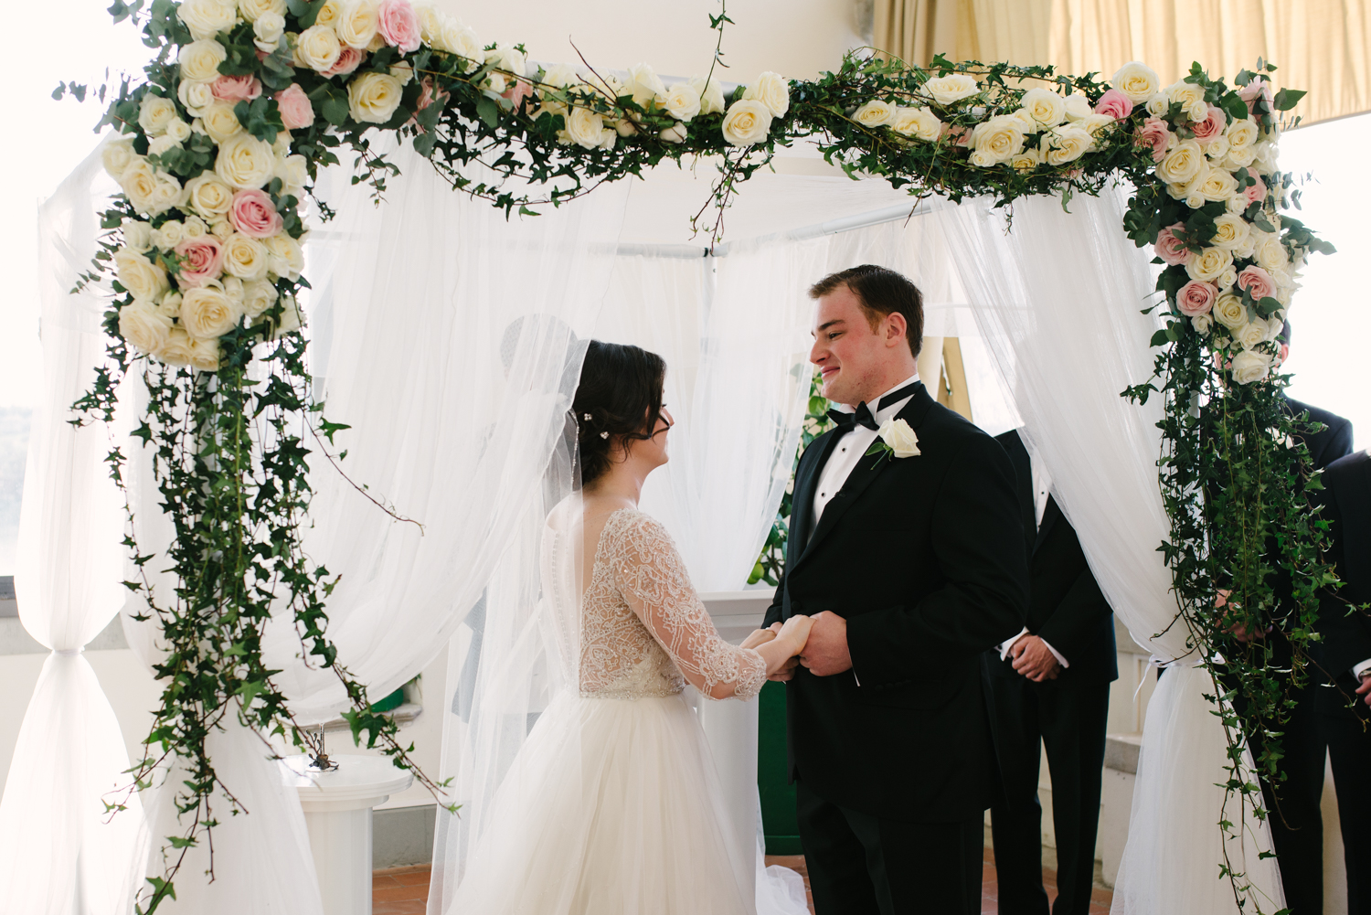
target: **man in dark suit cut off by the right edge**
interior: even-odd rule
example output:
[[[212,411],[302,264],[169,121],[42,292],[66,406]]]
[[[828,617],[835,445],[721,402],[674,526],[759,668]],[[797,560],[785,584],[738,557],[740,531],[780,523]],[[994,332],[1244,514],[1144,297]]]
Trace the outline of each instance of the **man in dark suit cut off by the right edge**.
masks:
[[[1330,464],[1323,484],[1323,517],[1333,540],[1328,560],[1344,586],[1319,608],[1323,639],[1313,649],[1337,689],[1319,689],[1313,704],[1338,793],[1348,915],[1371,915],[1371,616],[1360,609],[1371,604],[1371,451]]]

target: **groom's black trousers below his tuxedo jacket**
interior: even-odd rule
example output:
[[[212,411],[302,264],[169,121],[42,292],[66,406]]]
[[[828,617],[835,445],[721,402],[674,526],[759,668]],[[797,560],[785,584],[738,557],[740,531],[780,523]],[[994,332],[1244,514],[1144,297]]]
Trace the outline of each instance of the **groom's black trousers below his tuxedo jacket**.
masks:
[[[839,807],[795,782],[817,915],[978,915],[984,816],[910,823]]]

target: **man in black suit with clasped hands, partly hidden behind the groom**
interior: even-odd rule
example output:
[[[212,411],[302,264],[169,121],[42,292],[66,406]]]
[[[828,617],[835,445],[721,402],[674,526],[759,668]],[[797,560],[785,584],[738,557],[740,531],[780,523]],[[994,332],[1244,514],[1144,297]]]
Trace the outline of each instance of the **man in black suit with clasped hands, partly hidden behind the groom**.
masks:
[[[1017,431],[997,439],[1017,476],[1028,536],[1028,623],[986,653],[1005,796],[990,808],[999,911],[1047,915],[1042,886],[1041,746],[1052,772],[1057,837],[1053,915],[1086,915],[1105,759],[1109,683],[1119,678],[1113,612],[1090,572],[1075,528],[1049,494],[1046,468]]]

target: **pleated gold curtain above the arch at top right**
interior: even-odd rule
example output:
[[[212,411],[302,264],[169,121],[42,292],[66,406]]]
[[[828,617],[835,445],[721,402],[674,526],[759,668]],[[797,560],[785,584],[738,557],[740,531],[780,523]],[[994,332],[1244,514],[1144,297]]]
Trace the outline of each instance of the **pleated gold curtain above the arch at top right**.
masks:
[[[909,63],[1050,63],[1109,77],[1142,60],[1175,82],[1198,60],[1233,80],[1257,58],[1307,89],[1304,123],[1371,111],[1368,0],[875,0],[876,47]]]

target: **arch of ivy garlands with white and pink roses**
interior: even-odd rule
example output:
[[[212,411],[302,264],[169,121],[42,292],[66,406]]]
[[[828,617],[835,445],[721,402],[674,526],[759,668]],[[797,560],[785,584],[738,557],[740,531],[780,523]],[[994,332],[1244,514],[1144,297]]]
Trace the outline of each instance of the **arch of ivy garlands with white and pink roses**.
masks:
[[[140,911],[173,892],[175,849],[210,829],[217,776],[206,739],[215,722],[240,709],[263,734],[310,739],[263,660],[263,627],[280,602],[292,608],[307,658],[345,685],[354,737],[365,731],[409,764],[396,726],[372,711],[329,641],[325,604],[336,576],[300,547],[304,455],[341,460],[332,440],[348,428],[325,420],[310,395],[296,305],[308,288],[306,202],[319,169],[344,151],[356,154],[354,182],[384,198],[398,167],[373,145],[374,130],[404,137],[454,191],[511,218],[664,161],[712,158],[718,177],[695,219],[712,240],[747,178],[801,137],[849,176],[908,189],[912,204],[990,196],[1012,209],[1023,196],[1053,195],[1065,209],[1075,195],[1131,184],[1121,230],[1154,247],[1160,296],[1149,310],[1164,326],[1152,340],[1156,375],[1124,395],[1165,399],[1160,479],[1171,538],[1160,549],[1178,624],[1215,674],[1216,694],[1227,687],[1215,658],[1227,657],[1223,669],[1248,698],[1242,719],[1279,720],[1270,660],[1230,628],[1271,617],[1279,567],[1294,583],[1298,610],[1287,627],[1296,676],[1304,676],[1316,590],[1333,578],[1307,503],[1316,482],[1293,438],[1307,425],[1282,410],[1278,335],[1307,257],[1333,248],[1286,211],[1298,206],[1298,189],[1276,167],[1276,140],[1282,112],[1302,93],[1272,95],[1275,67],[1259,62],[1230,86],[1196,64],[1163,86],[1142,63],[1102,81],[1050,67],[936,58],[921,69],[850,54],[813,81],[764,73],[727,86],[712,70],[666,85],[647,64],[624,77],[584,62],[532,64],[521,45],[483,44],[454,18],[409,0],[154,0],[145,8],[115,0],[111,11],[117,22],[133,18],[158,56],[141,82],[111,89],[103,121],[119,134],[103,156],[123,193],[104,213],[106,236],[82,283],[112,289],[108,361],[77,409],[84,421],[112,418],[126,375],[149,392],[134,436],[155,453],[175,525],[166,560],[178,587],[174,599],[154,599],[152,556],[140,549],[130,513],[125,545],[145,573],[125,584],[148,599],[170,647],[134,781],[145,786],[167,757],[195,774],[177,798],[184,834],[169,840],[167,870]],[[721,11],[710,25],[723,36],[728,22]],[[473,166],[513,180],[469,177]],[[330,215],[322,202],[317,211]],[[126,458],[118,447],[110,454],[117,480]],[[1220,590],[1231,593],[1230,606],[1216,610]],[[1228,744],[1241,748],[1242,720],[1231,704],[1222,709]],[[1256,805],[1241,756],[1233,754],[1228,787]],[[1275,757],[1256,764],[1278,771]],[[1245,894],[1243,875],[1228,875]]]

